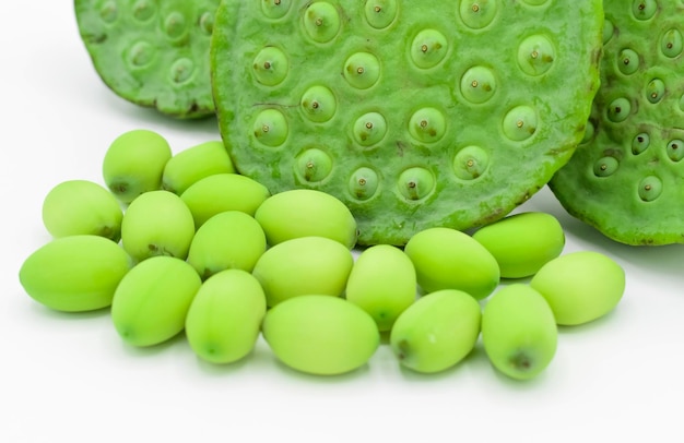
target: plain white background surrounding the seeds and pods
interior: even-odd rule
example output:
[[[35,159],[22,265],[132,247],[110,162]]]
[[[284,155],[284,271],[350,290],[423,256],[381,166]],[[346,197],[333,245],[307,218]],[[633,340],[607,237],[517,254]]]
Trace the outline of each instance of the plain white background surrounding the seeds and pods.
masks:
[[[17,272],[49,240],[40,206],[50,188],[102,183],[105,149],[131,129],[158,131],[174,152],[219,133],[215,120],[170,120],[110,93],[72,1],[2,1],[0,37],[0,441],[683,441],[684,247],[611,242],[547,189],[520,209],[556,215],[565,252],[611,255],[627,288],[610,315],[562,328],[554,361],[531,382],[498,375],[481,348],[433,376],[401,370],[387,346],[330,379],[284,368],[263,342],[244,362],[211,367],[182,337],[132,349],[107,312],[45,309]]]

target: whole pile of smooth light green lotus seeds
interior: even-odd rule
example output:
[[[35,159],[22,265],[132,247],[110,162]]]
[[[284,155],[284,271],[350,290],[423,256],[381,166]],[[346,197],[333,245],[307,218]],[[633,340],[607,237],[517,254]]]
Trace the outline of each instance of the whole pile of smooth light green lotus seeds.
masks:
[[[132,130],[108,147],[103,179],[47,193],[54,239],[25,259],[26,294],[58,311],[109,310],[130,346],[185,334],[214,364],[249,358],[262,335],[287,367],[341,374],[372,364],[388,334],[398,364],[418,373],[481,342],[498,371],[527,380],[552,362],[558,325],[605,315],[625,289],[616,262],[564,254],[559,223],[538,212],[358,248],[341,201],[271,194],[219,141],[173,155],[158,133]]]

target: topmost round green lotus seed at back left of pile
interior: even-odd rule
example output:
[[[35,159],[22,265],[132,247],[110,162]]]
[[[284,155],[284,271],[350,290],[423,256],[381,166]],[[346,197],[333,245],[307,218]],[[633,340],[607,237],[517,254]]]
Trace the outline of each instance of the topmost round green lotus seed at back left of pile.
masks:
[[[122,203],[156,191],[162,173],[172,157],[168,142],[154,131],[137,129],[111,142],[103,160],[103,177],[114,195]]]

